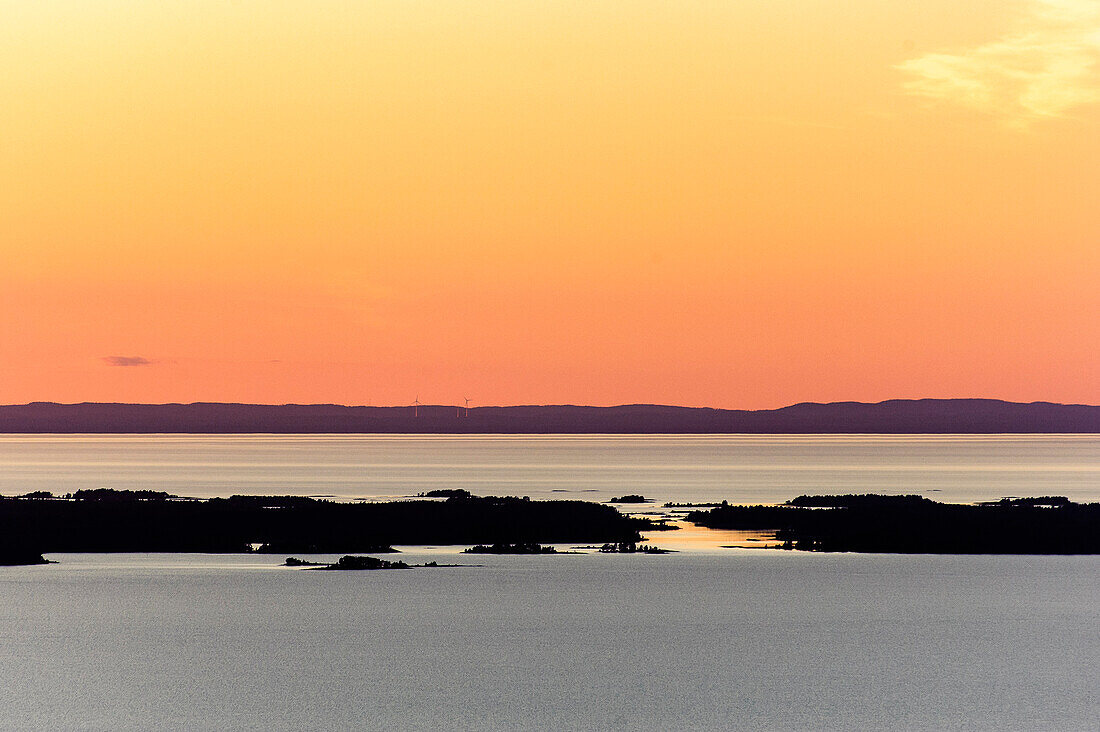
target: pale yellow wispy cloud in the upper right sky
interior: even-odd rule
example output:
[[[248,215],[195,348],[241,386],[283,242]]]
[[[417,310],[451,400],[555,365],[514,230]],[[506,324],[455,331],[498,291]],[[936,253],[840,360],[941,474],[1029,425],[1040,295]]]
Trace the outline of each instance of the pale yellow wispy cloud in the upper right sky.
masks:
[[[1015,127],[1100,101],[1100,0],[1030,0],[1020,32],[897,68],[909,94]]]

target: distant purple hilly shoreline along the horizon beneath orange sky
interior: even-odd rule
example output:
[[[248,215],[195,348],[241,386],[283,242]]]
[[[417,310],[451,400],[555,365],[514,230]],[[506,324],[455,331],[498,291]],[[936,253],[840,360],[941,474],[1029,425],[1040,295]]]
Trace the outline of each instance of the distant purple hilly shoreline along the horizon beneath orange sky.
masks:
[[[0,433],[948,434],[1100,433],[1100,406],[999,400],[625,406],[55,404],[0,406]]]

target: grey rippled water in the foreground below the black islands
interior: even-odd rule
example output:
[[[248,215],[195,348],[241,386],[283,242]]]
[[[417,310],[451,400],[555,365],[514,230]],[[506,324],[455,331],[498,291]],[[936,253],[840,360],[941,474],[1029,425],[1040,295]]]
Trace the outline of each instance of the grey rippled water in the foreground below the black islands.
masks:
[[[0,568],[0,729],[1100,720],[1094,557],[727,549],[374,572],[256,556],[53,558]]]

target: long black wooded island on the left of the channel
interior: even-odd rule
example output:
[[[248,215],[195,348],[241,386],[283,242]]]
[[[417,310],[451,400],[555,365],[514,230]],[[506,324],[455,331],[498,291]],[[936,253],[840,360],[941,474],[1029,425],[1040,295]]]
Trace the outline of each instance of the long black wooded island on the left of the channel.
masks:
[[[584,501],[459,496],[336,503],[299,496],[175,499],[95,491],[0,498],[0,537],[37,551],[380,551],[391,544],[622,542],[650,522]]]

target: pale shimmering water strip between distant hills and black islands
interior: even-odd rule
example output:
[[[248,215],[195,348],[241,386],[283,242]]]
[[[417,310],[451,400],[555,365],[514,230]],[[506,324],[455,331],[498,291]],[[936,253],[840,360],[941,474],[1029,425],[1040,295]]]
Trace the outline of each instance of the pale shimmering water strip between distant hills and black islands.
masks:
[[[0,436],[0,494],[414,495],[778,503],[801,493],[1100,500],[1098,435]]]

